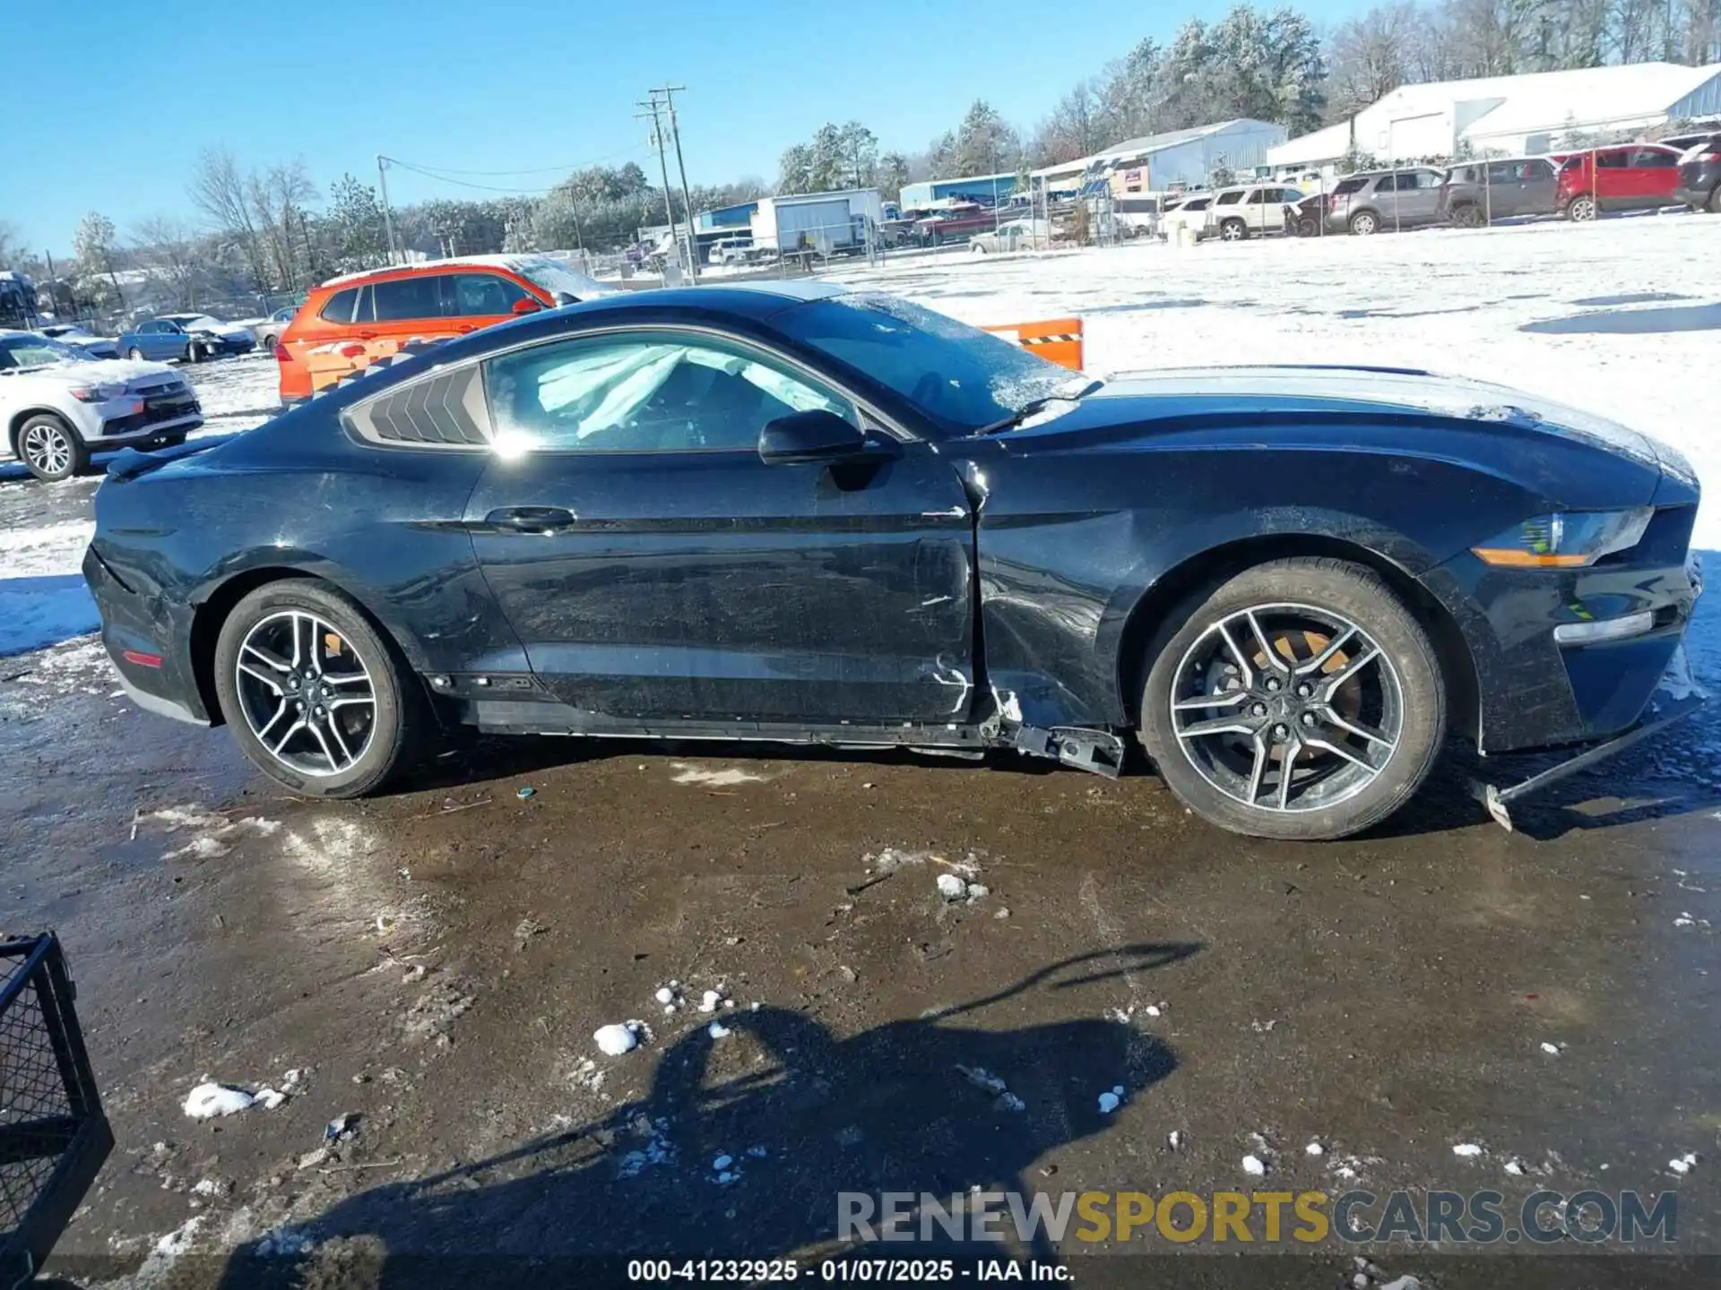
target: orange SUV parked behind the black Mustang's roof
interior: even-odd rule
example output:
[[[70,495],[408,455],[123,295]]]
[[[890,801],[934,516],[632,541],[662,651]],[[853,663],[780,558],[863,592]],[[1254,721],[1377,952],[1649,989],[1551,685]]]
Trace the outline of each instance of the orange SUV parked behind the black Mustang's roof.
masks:
[[[305,402],[413,341],[446,341],[611,291],[556,260],[525,255],[434,260],[329,279],[275,342],[281,404]]]

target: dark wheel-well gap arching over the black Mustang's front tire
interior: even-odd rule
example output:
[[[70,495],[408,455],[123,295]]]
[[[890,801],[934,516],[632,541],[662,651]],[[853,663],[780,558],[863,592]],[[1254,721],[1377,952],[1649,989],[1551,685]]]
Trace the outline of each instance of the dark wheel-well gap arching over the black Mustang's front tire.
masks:
[[[1354,542],[1313,533],[1229,542],[1193,556],[1148,588],[1136,607],[1129,611],[1117,652],[1119,693],[1132,726],[1138,726],[1141,719],[1141,686],[1146,683],[1150,666],[1148,645],[1165,616],[1206,583],[1222,581],[1249,566],[1287,556],[1329,556],[1363,564],[1379,573],[1397,592],[1434,642],[1435,655],[1440,660],[1440,681],[1446,685],[1447,724],[1459,734],[1477,736],[1480,722],[1477,667],[1470,657],[1470,647],[1465,643],[1465,635],[1458,630],[1458,623],[1446,611],[1446,605],[1384,556]]]

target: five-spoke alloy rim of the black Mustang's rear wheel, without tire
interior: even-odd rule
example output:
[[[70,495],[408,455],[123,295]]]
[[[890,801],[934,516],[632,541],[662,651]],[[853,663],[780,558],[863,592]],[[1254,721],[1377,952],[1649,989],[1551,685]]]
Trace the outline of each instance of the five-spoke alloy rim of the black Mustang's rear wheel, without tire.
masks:
[[[353,640],[327,619],[303,609],[263,617],[234,673],[246,726],[282,765],[336,776],[370,748],[377,690]]]

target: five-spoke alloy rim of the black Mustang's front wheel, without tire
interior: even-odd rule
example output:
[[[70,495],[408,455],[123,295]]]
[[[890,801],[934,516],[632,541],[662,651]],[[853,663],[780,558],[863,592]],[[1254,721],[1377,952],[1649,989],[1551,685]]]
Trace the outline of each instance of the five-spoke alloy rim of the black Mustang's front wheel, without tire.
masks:
[[[1255,810],[1322,810],[1385,771],[1404,729],[1404,686],[1348,617],[1261,604],[1189,645],[1170,719],[1184,757],[1225,796]]]

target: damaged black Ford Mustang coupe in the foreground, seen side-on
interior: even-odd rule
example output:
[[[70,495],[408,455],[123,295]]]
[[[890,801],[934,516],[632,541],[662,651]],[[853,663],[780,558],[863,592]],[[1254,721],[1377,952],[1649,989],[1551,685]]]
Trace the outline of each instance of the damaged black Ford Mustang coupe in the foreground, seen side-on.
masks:
[[[1206,819],[1337,838],[1449,728],[1587,762],[1683,714],[1652,697],[1697,497],[1669,449],[1492,385],[1072,380],[898,299],[749,284],[521,318],[133,454],[84,573],[139,703],[312,796],[461,724],[1103,774],[1134,731]],[[1489,789],[1502,822],[1521,788]]]

